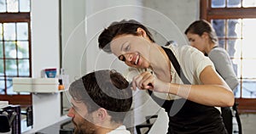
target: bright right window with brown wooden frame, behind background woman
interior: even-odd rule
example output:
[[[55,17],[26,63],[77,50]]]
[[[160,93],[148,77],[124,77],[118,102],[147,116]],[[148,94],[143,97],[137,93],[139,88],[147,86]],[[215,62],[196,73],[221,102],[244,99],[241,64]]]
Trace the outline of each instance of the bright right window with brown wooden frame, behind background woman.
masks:
[[[201,19],[212,23],[240,81],[234,91],[241,113],[256,113],[256,0],[201,0]]]

